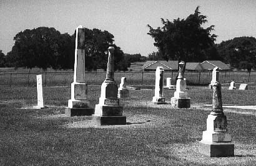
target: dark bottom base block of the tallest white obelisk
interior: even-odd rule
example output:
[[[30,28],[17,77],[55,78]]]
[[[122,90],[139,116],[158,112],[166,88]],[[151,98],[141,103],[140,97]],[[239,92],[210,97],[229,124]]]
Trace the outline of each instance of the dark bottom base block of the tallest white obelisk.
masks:
[[[94,108],[68,108],[65,109],[66,116],[91,116],[94,114]]]

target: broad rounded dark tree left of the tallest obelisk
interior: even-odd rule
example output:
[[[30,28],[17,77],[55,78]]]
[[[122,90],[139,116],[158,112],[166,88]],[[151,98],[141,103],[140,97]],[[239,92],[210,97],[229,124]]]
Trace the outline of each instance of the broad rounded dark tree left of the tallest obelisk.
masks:
[[[67,35],[67,34],[66,34]],[[14,37],[14,46],[7,58],[14,67],[39,67],[46,70],[47,67],[59,68],[57,60],[63,57],[60,49],[61,33],[53,27],[38,27],[26,29]]]

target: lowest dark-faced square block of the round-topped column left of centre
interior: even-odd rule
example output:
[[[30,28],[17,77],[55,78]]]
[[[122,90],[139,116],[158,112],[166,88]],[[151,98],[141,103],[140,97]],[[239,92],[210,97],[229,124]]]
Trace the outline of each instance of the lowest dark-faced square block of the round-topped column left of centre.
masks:
[[[92,123],[97,126],[102,125],[125,125],[126,116],[97,116],[92,115]]]

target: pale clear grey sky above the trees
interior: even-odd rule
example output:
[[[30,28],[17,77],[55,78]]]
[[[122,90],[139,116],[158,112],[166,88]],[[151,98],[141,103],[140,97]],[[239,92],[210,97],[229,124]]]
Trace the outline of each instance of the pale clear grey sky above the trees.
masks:
[[[11,51],[14,36],[25,29],[54,27],[72,35],[78,25],[107,30],[124,53],[147,56],[157,51],[149,27],[160,18],[185,19],[200,6],[204,27],[215,25],[216,43],[234,37],[256,37],[255,0],[0,0],[0,50]]]

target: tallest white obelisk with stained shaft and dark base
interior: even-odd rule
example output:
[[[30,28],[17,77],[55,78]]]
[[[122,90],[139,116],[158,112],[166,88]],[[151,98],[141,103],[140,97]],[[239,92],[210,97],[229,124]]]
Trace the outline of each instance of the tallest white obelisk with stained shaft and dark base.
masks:
[[[94,109],[89,107],[90,102],[87,100],[85,30],[82,25],[76,28],[74,81],[71,83],[71,99],[65,111],[67,116],[90,116],[94,113]]]

